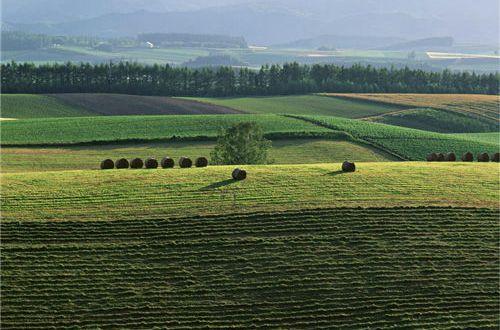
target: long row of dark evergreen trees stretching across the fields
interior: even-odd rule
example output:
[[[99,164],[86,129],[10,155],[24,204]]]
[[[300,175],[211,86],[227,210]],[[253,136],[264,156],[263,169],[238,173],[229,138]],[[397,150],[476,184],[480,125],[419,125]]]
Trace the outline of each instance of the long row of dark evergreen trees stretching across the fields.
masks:
[[[332,64],[189,69],[138,63],[1,65],[3,93],[126,93],[163,96],[311,92],[498,94],[500,74],[426,72]]]

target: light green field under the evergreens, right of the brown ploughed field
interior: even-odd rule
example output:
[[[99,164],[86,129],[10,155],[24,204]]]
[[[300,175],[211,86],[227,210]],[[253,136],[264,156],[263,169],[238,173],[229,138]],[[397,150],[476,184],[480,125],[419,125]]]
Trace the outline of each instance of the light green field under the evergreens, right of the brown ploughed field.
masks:
[[[325,115],[363,118],[403,109],[400,106],[379,105],[319,95],[188,99],[256,114]]]

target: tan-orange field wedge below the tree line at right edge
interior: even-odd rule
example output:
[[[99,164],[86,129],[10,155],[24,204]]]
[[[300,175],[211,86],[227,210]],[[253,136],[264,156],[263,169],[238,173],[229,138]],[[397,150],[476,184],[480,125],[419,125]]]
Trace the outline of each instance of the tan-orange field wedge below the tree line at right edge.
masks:
[[[477,116],[498,124],[500,98],[497,95],[460,94],[328,94],[351,100],[366,100],[411,108],[433,108]]]

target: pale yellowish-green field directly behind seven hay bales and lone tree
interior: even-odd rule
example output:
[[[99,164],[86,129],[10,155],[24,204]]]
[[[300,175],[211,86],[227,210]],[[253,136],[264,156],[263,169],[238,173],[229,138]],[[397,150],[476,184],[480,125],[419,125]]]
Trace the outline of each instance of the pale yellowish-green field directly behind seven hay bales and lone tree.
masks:
[[[2,148],[1,172],[37,172],[90,170],[99,167],[102,159],[125,157],[178,160],[182,156],[210,159],[214,142],[154,142],[102,146],[68,146],[52,148]],[[273,164],[337,163],[346,159],[356,162],[395,160],[374,148],[341,140],[287,139],[272,142],[269,160]]]

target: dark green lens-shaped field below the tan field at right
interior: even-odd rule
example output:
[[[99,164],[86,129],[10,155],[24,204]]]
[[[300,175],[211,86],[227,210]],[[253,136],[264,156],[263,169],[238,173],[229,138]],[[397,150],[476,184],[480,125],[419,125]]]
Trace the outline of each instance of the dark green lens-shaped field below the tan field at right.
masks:
[[[366,120],[439,133],[494,132],[498,123],[457,112],[435,109],[410,109],[365,118]]]

